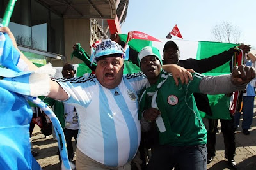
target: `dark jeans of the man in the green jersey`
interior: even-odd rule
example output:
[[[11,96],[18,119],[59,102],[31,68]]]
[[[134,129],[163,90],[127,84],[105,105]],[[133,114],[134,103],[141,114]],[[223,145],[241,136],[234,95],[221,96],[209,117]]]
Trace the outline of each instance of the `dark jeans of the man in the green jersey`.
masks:
[[[206,170],[207,148],[205,144],[193,146],[161,145],[152,148],[147,169],[170,170],[176,164],[179,169]]]

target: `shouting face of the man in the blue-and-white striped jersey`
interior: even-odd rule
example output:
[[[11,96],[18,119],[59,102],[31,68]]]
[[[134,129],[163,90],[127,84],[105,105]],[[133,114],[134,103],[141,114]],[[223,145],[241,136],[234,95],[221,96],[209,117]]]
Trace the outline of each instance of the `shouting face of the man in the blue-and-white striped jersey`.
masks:
[[[124,60],[121,57],[106,57],[97,62],[96,77],[101,85],[109,89],[117,87],[124,70]]]

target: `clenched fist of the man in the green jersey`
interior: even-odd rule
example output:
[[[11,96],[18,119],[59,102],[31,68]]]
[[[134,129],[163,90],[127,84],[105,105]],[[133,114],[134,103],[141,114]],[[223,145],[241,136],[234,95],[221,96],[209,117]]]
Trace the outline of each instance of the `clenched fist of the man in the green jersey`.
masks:
[[[256,76],[256,71],[253,67],[235,66],[232,70],[231,82],[234,85],[243,85],[249,83]]]

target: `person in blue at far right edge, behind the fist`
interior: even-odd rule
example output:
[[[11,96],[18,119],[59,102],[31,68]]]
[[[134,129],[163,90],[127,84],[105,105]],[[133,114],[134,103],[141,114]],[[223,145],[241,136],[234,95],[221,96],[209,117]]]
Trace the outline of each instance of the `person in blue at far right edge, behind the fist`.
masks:
[[[249,52],[247,55],[246,66],[255,68],[256,56],[255,54]],[[243,134],[250,134],[250,126],[252,125],[253,118],[253,108],[254,108],[254,98],[255,98],[255,86],[256,80],[253,79],[249,84],[246,90],[243,92],[243,122],[242,129]],[[239,127],[241,112],[235,113],[235,125],[236,128]]]

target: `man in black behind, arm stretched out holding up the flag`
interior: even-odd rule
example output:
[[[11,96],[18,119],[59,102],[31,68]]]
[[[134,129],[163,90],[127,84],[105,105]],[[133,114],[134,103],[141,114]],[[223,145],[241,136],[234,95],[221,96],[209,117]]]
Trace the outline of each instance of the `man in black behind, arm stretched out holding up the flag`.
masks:
[[[196,60],[196,59],[186,59],[179,60],[180,51],[179,46],[173,41],[168,41],[163,48],[163,64],[177,64],[186,69],[193,69],[197,73],[205,73],[211,71],[216,67],[219,67],[226,62],[230,61],[234,53],[239,54],[241,50],[244,53],[250,51],[250,45],[241,44],[239,46],[234,46],[227,51],[224,51],[217,55],[212,55],[209,58]],[[209,99],[206,94],[194,93],[196,105],[198,110],[204,111],[207,115],[212,115],[211,107],[209,105]],[[236,142],[235,142],[235,129],[234,129],[234,116],[230,114],[231,120],[221,120],[221,132],[223,132],[224,143],[225,143],[225,157],[228,159],[228,165],[237,168],[236,162],[234,160],[236,152]],[[215,143],[216,143],[216,127],[218,125],[218,120],[209,119],[209,128],[207,136],[207,162],[210,163],[215,156]],[[176,169],[176,168],[175,168]]]

